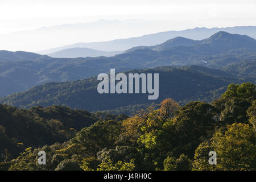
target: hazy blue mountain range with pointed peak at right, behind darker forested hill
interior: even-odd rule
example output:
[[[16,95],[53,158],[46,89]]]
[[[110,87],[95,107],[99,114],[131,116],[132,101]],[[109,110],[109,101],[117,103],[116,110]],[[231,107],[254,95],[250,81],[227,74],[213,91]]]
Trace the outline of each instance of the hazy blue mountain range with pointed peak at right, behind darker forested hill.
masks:
[[[22,92],[46,82],[89,78],[108,73],[110,68],[115,68],[117,72],[184,65],[224,69],[229,64],[255,61],[255,50],[255,39],[221,31],[200,41],[178,37],[156,46],[134,47],[112,57],[69,59],[30,52],[0,51],[0,84],[5,86],[0,96]],[[248,74],[255,76],[254,72]]]

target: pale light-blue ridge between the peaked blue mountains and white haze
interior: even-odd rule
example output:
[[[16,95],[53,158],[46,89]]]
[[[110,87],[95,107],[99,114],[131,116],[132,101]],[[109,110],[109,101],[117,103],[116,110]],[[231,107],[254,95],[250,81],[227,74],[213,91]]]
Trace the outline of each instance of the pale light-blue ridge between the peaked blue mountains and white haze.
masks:
[[[86,47],[96,49],[98,51],[125,51],[137,46],[154,46],[162,44],[167,40],[183,37],[193,40],[202,40],[209,38],[209,36],[216,34],[219,31],[229,32],[230,34],[247,35],[256,39],[256,26],[236,26],[226,28],[193,28],[182,31],[166,31],[156,34],[148,34],[134,38],[116,39],[105,42],[91,42],[91,43],[76,43],[67,46],[46,49],[38,51],[37,53],[48,55],[49,53],[60,51],[67,48]]]

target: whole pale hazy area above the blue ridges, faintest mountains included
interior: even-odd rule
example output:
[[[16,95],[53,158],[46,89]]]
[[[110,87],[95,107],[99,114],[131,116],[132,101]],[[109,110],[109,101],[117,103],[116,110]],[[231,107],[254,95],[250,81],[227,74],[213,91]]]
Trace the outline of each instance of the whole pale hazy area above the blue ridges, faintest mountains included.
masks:
[[[255,0],[0,0],[0,49],[40,51],[169,30],[256,26],[255,12]],[[71,26],[56,28],[61,24]]]

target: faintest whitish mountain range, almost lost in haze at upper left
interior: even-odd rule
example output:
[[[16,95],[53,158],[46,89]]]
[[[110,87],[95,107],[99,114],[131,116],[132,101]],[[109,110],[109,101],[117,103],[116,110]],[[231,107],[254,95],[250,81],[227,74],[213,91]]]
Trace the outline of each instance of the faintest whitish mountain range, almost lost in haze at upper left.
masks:
[[[35,52],[43,49],[55,48],[75,43],[102,42],[114,39],[133,38],[142,35],[154,34],[160,31],[174,30],[179,24],[180,30],[188,27],[204,27],[201,24],[189,21],[173,20],[141,20],[141,19],[100,19],[92,22],[84,22],[85,19],[77,19],[69,23],[58,24],[47,23],[36,29],[21,30],[0,34],[0,49],[11,51]],[[50,21],[51,22],[51,21]],[[65,20],[66,22],[66,20]],[[10,23],[10,22],[9,22]],[[24,21],[22,22],[22,24]],[[30,22],[31,23],[31,22]],[[2,23],[3,24],[3,23]],[[36,23],[38,24],[38,22]],[[31,24],[30,24],[31,26]],[[41,26],[38,24],[38,26]],[[32,26],[32,27],[38,27]],[[24,26],[27,27],[27,26]],[[32,28],[31,27],[31,28]],[[6,27],[5,27],[6,28]],[[15,28],[13,29],[15,30]],[[168,38],[171,39],[171,38]],[[166,39],[167,40],[167,39]],[[155,44],[155,43],[154,43]],[[152,45],[154,45],[152,44]],[[143,46],[147,46],[142,44]],[[139,45],[136,45],[139,46]],[[73,47],[69,47],[73,48]],[[92,48],[92,47],[87,47]],[[129,47],[131,48],[131,47]],[[96,49],[96,48],[92,48]],[[99,51],[108,51],[96,49]],[[125,49],[124,49],[125,50]],[[56,50],[60,51],[60,50]],[[56,52],[53,51],[53,52]],[[114,51],[123,51],[117,49]],[[52,52],[51,52],[52,53]],[[47,54],[48,53],[43,53]]]

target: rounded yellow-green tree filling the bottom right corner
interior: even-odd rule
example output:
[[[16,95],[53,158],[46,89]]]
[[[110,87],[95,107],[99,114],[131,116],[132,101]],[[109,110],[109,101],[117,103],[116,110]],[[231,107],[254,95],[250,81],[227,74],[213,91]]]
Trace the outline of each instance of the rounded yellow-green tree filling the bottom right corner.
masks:
[[[210,166],[208,152],[217,153],[217,164]],[[202,143],[195,152],[193,169],[196,170],[255,170],[256,135],[253,126],[233,123],[227,129],[219,129],[210,139]]]

